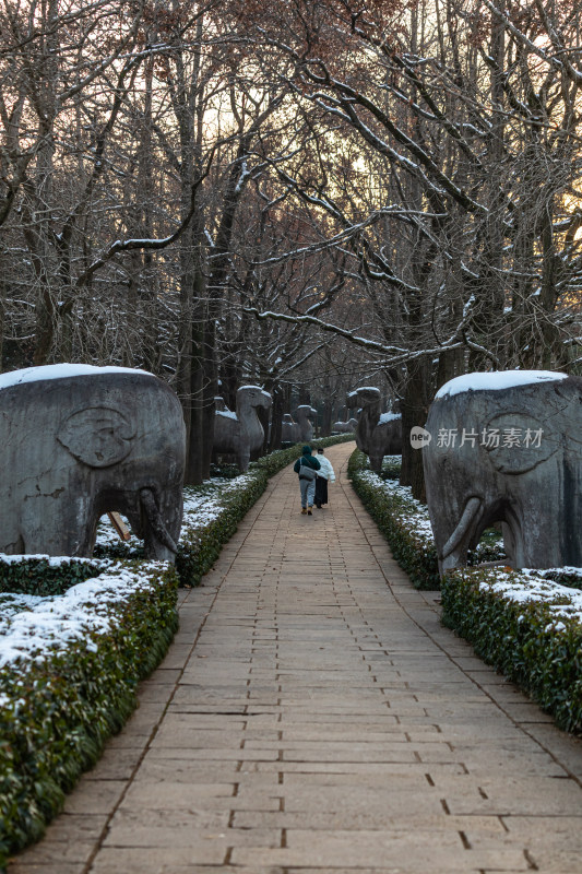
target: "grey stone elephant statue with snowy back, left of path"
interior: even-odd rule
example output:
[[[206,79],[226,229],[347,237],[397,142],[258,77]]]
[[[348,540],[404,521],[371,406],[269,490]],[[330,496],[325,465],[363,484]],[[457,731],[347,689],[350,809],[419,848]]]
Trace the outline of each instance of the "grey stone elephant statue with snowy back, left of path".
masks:
[[[173,560],[182,521],[180,403],[144,370],[29,367],[0,376],[0,552],[91,556],[124,513],[149,557]]]

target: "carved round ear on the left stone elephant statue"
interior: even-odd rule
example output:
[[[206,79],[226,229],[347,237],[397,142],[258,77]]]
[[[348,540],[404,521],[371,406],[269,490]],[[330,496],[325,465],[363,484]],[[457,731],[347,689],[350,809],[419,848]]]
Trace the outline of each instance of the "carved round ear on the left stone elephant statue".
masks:
[[[109,468],[129,456],[134,436],[133,425],[119,410],[90,406],[72,413],[57,439],[83,464]]]

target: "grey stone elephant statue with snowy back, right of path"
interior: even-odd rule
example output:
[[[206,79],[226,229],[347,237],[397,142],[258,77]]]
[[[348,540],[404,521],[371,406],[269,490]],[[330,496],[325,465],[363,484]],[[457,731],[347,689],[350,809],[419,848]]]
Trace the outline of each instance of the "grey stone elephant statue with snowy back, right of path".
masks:
[[[428,509],[442,572],[501,522],[508,564],[582,566],[582,378],[468,374],[428,412]]]

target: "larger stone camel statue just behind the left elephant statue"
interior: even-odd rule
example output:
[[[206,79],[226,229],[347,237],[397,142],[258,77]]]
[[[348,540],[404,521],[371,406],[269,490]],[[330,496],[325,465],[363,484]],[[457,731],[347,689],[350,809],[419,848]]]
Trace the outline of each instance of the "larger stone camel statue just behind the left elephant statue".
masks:
[[[271,403],[269,392],[259,386],[239,388],[236,413],[227,410],[215,412],[213,453],[236,456],[240,470],[247,471],[251,452],[261,449],[264,440],[264,429],[257,409],[269,410]]]

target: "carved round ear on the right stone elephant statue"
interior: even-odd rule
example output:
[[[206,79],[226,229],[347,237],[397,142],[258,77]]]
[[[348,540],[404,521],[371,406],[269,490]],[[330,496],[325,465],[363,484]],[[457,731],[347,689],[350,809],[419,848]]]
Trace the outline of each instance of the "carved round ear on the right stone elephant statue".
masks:
[[[557,451],[560,438],[546,423],[523,412],[494,416],[483,429],[482,446],[500,473],[526,473]]]

